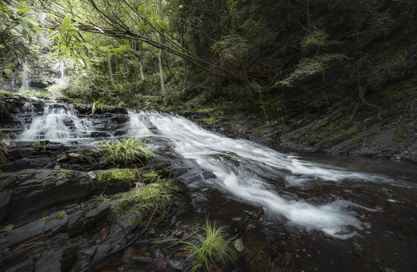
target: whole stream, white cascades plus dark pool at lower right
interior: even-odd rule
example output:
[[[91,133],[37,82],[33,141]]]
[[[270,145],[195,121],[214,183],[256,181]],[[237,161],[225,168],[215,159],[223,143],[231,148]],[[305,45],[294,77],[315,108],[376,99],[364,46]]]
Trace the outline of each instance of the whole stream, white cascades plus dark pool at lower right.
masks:
[[[101,137],[141,137],[195,196],[197,215],[246,224],[250,257],[237,264],[247,271],[417,270],[415,164],[284,154],[179,115],[128,110],[125,117],[115,133],[74,106],[28,104],[15,117],[17,139],[95,146]],[[241,222],[256,208],[261,218]]]

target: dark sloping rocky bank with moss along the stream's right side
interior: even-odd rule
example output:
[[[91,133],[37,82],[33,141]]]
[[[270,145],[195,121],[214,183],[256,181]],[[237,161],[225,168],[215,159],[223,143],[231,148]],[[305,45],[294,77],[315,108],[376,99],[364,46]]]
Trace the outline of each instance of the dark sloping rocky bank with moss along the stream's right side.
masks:
[[[204,128],[284,152],[330,153],[417,162],[417,94],[393,105],[336,105],[328,113],[262,116],[234,106],[177,112]]]

